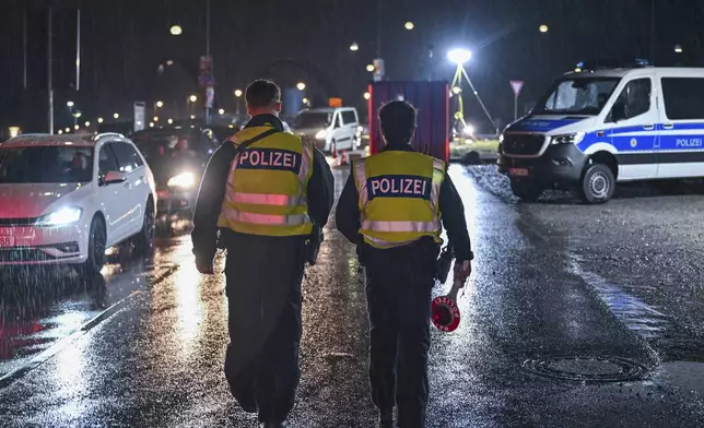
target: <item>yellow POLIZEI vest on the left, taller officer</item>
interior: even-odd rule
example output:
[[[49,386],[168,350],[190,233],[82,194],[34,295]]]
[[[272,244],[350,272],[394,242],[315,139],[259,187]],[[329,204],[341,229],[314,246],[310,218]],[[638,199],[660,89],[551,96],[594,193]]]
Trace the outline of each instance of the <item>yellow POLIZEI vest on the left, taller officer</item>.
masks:
[[[245,128],[225,144],[249,140],[269,127]],[[313,145],[277,132],[249,145],[232,162],[219,227],[250,235],[309,235],[306,190],[313,174]]]

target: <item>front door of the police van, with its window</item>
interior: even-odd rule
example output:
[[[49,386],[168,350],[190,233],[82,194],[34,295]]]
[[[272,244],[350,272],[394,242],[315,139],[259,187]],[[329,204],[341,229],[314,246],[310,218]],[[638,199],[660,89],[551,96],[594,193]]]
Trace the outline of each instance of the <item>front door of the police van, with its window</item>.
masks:
[[[617,148],[619,181],[644,180],[658,170],[658,108],[650,76],[629,81],[607,116],[611,144]]]

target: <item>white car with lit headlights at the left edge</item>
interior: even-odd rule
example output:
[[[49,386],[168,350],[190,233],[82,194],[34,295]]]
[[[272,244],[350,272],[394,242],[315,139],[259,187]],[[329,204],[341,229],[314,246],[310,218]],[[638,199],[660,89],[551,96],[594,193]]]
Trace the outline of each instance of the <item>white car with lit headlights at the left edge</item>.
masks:
[[[0,266],[72,264],[94,275],[112,246],[151,248],[155,210],[152,171],[120,134],[0,144]]]

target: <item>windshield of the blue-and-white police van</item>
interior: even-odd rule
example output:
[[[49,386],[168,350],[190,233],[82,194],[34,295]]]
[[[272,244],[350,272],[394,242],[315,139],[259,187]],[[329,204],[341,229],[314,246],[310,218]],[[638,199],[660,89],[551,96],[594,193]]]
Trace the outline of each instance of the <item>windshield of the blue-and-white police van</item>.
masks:
[[[598,115],[621,78],[579,78],[558,81],[532,110],[533,115]]]

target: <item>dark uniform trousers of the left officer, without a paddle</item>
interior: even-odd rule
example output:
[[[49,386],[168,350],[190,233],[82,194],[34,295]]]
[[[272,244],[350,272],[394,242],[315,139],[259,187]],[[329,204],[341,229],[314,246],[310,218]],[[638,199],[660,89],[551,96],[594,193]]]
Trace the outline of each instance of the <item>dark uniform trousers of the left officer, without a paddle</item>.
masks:
[[[301,283],[305,237],[226,231],[230,340],[225,377],[243,408],[283,421],[301,371]]]

